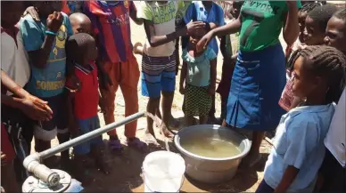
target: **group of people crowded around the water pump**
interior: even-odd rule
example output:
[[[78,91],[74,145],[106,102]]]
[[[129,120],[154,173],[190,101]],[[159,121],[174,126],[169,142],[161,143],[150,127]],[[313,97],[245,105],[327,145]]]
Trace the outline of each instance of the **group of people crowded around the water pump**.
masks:
[[[181,59],[185,125],[199,117],[200,124],[221,121],[246,135],[251,150],[242,165],[248,167],[260,161],[264,134],[276,130],[257,192],[344,191],[345,8],[300,1],[229,4],[223,10],[213,1],[143,1],[137,7],[132,1],[2,1],[4,190],[20,192],[29,174],[21,163],[33,138],[40,152],[55,137],[62,143],[89,133],[100,127],[98,107],[105,124],[113,123],[119,87],[125,116],[135,114],[140,77],[147,111],[162,119],[161,134],[169,136]],[[144,45],[132,45],[130,18],[144,26]],[[224,61],[216,88],[218,50]],[[141,71],[134,53],[143,55]],[[136,121],[125,126],[128,146],[146,151],[136,127]],[[147,133],[155,138],[151,118]],[[108,135],[111,150],[121,153],[116,130]],[[69,169],[68,150],[60,163],[45,160],[57,164]],[[90,167],[110,173],[102,137],[74,147],[72,165],[86,184],[93,180]]]

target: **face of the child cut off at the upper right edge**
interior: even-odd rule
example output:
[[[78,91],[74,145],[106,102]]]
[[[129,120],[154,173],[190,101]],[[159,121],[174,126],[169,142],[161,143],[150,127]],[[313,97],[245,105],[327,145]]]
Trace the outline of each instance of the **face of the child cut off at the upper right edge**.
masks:
[[[325,44],[346,54],[346,8],[336,12],[325,29]]]

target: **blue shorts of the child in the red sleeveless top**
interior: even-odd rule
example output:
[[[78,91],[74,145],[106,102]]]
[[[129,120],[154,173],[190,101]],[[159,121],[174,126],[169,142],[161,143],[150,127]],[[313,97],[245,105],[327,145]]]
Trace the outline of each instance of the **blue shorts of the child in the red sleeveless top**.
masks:
[[[79,119],[78,125],[79,125],[79,130],[78,130],[78,133],[75,136],[73,136],[74,138],[100,128],[100,120],[98,119],[98,116],[96,115],[95,117],[91,117],[88,119]],[[74,147],[73,151],[76,155],[86,155],[90,152],[90,149],[92,146],[98,146],[102,143],[103,143],[103,137],[98,136]]]

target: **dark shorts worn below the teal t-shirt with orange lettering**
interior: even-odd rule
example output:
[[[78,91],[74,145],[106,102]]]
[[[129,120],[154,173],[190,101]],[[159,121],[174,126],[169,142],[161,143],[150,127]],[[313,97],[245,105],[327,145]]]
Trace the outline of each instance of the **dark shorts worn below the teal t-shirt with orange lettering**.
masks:
[[[67,95],[61,93],[54,97],[41,98],[47,101],[53,110],[53,118],[49,121],[37,122],[34,125],[34,136],[37,140],[51,141],[57,133],[69,133],[67,128]]]

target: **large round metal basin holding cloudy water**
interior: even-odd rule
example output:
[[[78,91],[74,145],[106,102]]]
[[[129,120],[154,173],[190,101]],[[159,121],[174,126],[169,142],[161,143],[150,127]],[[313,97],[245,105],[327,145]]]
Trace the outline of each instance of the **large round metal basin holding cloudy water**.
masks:
[[[201,157],[180,146],[180,143],[182,141],[188,141],[190,136],[201,138],[211,137],[232,141],[238,146],[241,153],[235,157]],[[242,158],[249,153],[251,147],[251,142],[245,136],[220,125],[194,125],[185,127],[177,133],[174,138],[174,143],[185,159],[185,173],[196,181],[206,183],[219,183],[231,180],[235,176]]]

